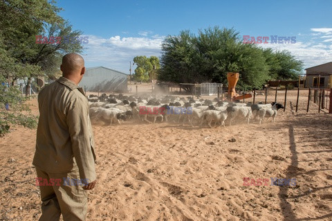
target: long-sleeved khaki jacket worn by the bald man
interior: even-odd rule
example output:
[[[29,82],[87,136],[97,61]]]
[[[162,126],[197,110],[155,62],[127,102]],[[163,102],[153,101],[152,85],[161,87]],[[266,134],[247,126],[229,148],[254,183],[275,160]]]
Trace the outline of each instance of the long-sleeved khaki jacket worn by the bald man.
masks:
[[[38,95],[39,122],[33,165],[46,173],[79,170],[93,182],[95,151],[89,103],[81,87],[64,77]]]

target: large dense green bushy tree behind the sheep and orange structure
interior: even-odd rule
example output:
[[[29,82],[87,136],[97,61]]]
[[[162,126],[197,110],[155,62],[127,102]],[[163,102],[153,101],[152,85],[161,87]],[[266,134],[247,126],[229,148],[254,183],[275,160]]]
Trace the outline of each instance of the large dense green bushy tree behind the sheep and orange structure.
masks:
[[[240,73],[240,87],[261,88],[273,78],[294,78],[302,62],[291,53],[243,44],[233,28],[207,28],[193,35],[183,30],[162,44],[159,80],[183,83],[221,82],[227,73]]]

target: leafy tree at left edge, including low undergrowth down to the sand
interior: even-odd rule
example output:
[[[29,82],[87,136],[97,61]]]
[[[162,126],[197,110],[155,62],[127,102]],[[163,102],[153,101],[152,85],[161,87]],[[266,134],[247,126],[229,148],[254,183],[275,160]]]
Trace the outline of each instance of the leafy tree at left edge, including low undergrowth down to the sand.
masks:
[[[36,35],[77,37],[82,32],[72,30],[68,21],[57,13],[62,10],[48,0],[0,1],[0,135],[11,125],[35,127],[26,98],[21,98],[15,80],[30,82],[37,76],[57,73],[62,55],[82,51],[80,42],[73,44],[36,44]],[[9,110],[5,109],[8,107]]]

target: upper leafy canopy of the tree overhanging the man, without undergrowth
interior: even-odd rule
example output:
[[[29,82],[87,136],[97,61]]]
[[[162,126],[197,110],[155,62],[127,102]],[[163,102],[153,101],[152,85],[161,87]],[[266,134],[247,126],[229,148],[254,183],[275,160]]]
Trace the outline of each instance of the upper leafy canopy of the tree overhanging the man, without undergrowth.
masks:
[[[82,32],[72,30],[68,21],[57,15],[61,8],[53,4],[55,1],[31,0],[26,3],[22,0],[0,1],[0,35],[3,37],[4,48],[9,55],[25,65],[25,67],[36,67],[41,69],[39,73],[26,71],[23,76],[18,72],[11,73],[11,78],[26,78],[26,89],[30,87],[32,78],[37,76],[48,76],[54,73],[64,53],[82,52],[79,42],[66,44],[36,44],[36,36],[71,37],[75,39]],[[32,65],[32,66],[31,66]],[[31,70],[31,69],[29,69]]]

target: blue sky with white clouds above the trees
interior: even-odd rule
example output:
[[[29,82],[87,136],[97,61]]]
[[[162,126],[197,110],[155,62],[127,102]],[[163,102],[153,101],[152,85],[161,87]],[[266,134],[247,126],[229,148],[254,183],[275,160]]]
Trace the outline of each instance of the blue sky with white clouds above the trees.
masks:
[[[74,30],[89,36],[86,67],[129,73],[136,55],[161,55],[167,35],[198,33],[213,26],[234,28],[240,36],[296,37],[295,44],[261,44],[288,50],[304,68],[332,62],[332,1],[68,1],[59,13]]]

